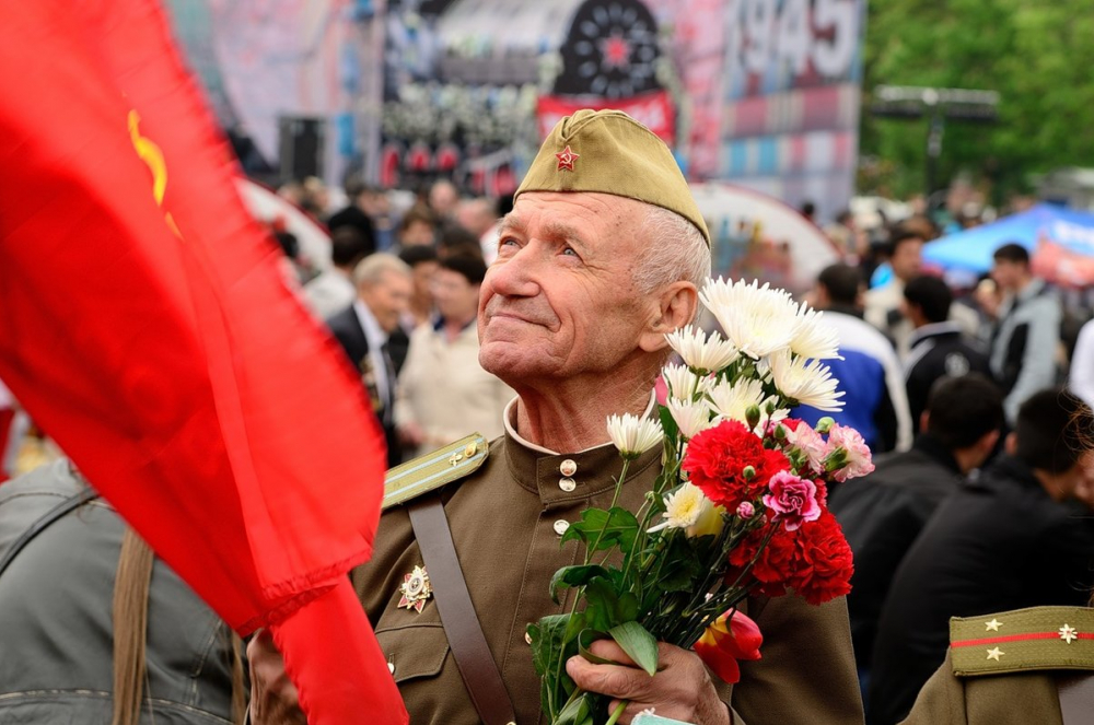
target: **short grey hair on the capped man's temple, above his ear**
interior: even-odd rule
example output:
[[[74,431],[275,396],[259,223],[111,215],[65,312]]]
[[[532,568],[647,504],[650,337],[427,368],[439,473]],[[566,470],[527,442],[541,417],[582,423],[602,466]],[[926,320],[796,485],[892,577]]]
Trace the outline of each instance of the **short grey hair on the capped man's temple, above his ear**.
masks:
[[[642,225],[645,246],[635,264],[635,284],[650,294],[680,280],[702,289],[710,279],[710,247],[698,227],[674,211],[650,204]]]

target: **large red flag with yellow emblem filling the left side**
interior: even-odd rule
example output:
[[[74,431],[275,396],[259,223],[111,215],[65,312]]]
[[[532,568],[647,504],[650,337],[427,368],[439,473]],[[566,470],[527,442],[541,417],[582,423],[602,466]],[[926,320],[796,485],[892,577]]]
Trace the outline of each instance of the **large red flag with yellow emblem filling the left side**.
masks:
[[[0,9],[0,378],[310,722],[406,722],[346,572],[383,444],[153,0]]]

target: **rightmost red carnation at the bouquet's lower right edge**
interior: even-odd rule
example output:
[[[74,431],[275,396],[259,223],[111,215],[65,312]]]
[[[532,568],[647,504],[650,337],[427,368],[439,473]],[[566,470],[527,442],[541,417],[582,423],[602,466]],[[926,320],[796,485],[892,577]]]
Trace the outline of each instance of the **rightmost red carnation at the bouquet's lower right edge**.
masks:
[[[851,547],[831,512],[803,524],[795,534],[790,586],[812,605],[850,592],[854,571]]]

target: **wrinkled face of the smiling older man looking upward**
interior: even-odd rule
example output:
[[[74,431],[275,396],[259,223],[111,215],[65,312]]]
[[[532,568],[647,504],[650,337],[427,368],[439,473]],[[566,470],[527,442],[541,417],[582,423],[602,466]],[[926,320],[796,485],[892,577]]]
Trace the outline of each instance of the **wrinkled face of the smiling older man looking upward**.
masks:
[[[645,204],[608,194],[526,192],[505,217],[479,295],[479,362],[519,386],[608,373],[657,311],[639,294]]]

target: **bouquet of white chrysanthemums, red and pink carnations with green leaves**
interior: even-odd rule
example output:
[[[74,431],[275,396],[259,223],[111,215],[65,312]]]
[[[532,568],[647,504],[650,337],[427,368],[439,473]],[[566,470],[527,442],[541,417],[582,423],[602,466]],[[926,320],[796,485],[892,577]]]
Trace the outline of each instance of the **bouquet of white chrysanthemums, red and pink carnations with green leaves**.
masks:
[[[712,280],[700,294],[722,329],[686,327],[668,336],[684,360],[667,365],[659,420],[612,416],[622,457],[607,511],[589,508],[562,537],[584,547],[583,563],[550,583],[569,613],[528,627],[543,709],[554,725],[612,725],[624,704],[578,689],[566,660],[613,639],[651,676],[657,642],[694,648],[728,682],[737,660],[758,659],[761,635],[736,610],[749,594],[793,590],[810,604],[850,590],[851,550],[826,507],[827,484],[873,470],[853,429],[830,418],[811,426],[798,405],[839,410],[837,381],[822,362],[837,358],[823,313],[767,284]],[[616,503],[627,467],[664,446],[663,468],[637,512]]]

